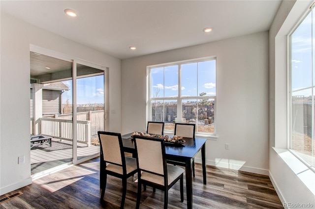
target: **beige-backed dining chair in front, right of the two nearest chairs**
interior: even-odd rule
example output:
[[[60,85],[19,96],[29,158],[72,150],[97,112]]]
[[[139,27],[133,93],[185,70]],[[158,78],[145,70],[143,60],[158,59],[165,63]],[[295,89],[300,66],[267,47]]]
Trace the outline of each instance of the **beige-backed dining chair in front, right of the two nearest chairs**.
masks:
[[[164,209],[167,209],[168,190],[180,180],[181,201],[184,202],[184,169],[166,163],[164,140],[140,135],[134,135],[133,139],[139,169],[136,209],[140,207],[142,184],[163,190]]]

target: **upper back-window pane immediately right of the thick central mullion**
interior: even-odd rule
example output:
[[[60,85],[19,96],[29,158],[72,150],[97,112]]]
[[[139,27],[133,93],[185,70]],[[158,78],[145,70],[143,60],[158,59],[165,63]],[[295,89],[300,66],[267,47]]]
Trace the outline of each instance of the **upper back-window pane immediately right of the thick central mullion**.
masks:
[[[182,97],[197,96],[197,63],[181,65]]]

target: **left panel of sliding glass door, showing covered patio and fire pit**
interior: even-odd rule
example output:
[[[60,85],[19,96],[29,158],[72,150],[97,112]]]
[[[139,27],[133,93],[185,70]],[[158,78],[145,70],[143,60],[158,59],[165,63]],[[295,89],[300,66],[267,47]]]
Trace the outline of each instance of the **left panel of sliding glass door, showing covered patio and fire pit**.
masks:
[[[72,60],[36,52],[30,58],[33,175],[72,163]]]

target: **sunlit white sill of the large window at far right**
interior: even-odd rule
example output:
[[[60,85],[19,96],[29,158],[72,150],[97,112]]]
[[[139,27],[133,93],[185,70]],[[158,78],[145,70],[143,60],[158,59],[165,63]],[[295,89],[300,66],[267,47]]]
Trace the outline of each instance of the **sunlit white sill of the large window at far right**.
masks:
[[[301,160],[295,157],[287,149],[275,148],[276,153],[284,160],[295,175],[308,187],[315,195],[315,172],[306,166]]]

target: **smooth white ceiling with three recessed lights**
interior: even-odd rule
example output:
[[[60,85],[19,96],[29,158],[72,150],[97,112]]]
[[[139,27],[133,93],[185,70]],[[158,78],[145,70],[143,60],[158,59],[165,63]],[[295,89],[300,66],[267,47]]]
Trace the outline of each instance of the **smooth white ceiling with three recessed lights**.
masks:
[[[269,30],[281,0],[1,0],[1,12],[119,59]],[[76,18],[64,9],[77,12]],[[210,26],[213,31],[203,32]],[[136,46],[131,51],[129,46]]]

